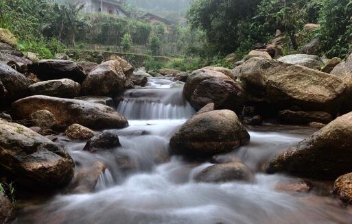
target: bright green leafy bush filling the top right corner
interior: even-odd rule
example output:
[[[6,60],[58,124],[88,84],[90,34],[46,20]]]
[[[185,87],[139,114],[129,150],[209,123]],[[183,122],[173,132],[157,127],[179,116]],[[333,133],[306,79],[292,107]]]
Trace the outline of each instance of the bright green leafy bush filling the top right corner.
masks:
[[[320,41],[329,57],[344,57],[352,49],[352,1],[321,0]]]

